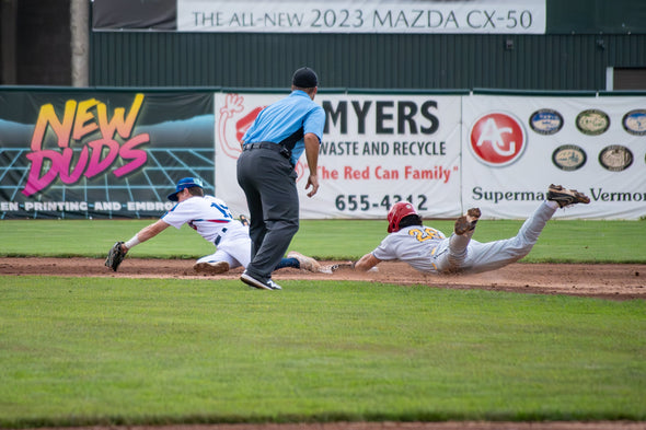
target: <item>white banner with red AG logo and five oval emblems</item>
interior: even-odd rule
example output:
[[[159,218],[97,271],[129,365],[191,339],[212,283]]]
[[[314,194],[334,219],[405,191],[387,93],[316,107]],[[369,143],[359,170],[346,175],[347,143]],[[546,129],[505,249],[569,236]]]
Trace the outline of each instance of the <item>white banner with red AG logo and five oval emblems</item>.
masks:
[[[644,97],[464,97],[462,195],[483,218],[523,219],[550,184],[591,199],[557,218],[646,216]]]

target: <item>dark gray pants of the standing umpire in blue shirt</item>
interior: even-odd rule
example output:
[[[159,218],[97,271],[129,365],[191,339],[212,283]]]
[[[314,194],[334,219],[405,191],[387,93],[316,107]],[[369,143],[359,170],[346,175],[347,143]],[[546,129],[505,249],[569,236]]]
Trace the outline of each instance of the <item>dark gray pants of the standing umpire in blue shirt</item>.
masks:
[[[299,228],[297,174],[289,160],[255,148],[238,158],[238,184],[249,207],[251,263],[246,272],[266,282]]]

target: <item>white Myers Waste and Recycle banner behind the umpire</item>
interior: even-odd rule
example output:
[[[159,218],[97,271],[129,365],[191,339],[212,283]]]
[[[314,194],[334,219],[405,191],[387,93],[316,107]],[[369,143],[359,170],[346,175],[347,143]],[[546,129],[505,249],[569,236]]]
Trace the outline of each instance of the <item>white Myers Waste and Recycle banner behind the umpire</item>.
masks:
[[[258,112],[287,94],[216,94],[216,194],[246,212],[235,179],[240,141]],[[304,186],[304,154],[296,171],[301,217],[385,218],[400,200],[424,217],[460,213],[459,95],[318,94],[326,127],[319,156],[321,187]]]

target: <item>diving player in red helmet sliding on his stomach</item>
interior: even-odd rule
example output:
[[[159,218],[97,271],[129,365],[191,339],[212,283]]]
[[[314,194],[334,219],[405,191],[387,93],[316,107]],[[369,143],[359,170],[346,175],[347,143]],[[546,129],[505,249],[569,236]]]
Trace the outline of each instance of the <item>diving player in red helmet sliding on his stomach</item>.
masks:
[[[481,217],[477,208],[469,209],[458,218],[450,237],[426,226],[413,205],[396,202],[388,213],[388,232],[391,233],[370,254],[362,256],[355,269],[366,271],[383,260],[402,260],[427,274],[477,274],[499,269],[528,255],[539,234],[556,209],[590,199],[576,189],[550,185],[546,200],[527,219],[518,234],[511,239],[481,243],[472,241],[475,224]]]

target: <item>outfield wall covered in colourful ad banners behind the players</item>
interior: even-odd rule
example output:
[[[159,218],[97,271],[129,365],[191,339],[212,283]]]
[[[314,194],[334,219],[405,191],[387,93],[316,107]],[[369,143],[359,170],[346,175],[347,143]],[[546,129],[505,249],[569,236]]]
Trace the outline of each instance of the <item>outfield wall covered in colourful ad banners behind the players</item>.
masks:
[[[0,89],[0,218],[155,218],[184,176],[246,213],[240,138],[285,92]],[[523,219],[550,183],[588,194],[570,219],[646,216],[646,94],[327,90],[321,188],[303,219]]]

